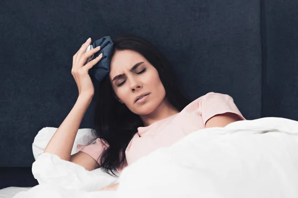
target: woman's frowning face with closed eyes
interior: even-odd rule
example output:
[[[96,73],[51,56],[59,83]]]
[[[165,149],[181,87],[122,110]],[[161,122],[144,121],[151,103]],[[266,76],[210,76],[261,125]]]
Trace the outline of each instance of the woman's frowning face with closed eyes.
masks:
[[[157,70],[136,51],[116,51],[111,59],[109,75],[120,102],[138,115],[151,113],[165,97]],[[149,95],[136,101],[143,94]]]

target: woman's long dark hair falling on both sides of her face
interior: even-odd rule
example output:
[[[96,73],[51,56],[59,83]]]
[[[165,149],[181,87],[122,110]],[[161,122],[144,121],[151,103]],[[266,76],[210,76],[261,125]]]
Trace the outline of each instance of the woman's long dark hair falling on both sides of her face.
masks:
[[[131,49],[143,55],[153,65],[165,89],[165,97],[179,112],[190,103],[188,96],[181,93],[173,80],[170,64],[163,54],[147,40],[131,34],[112,39],[113,54],[116,50]],[[141,117],[120,103],[110,83],[109,75],[95,87],[94,127],[97,138],[108,148],[101,154],[100,166],[103,171],[115,175],[125,162],[125,150],[138,127],[144,126]],[[99,160],[99,159],[98,159]]]

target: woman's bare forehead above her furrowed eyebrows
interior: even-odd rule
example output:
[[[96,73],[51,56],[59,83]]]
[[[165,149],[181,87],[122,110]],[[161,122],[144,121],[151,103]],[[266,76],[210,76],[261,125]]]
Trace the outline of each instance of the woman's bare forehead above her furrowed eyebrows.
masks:
[[[136,63],[146,61],[146,58],[140,53],[125,49],[121,51],[115,51],[111,59],[110,78],[130,70]]]

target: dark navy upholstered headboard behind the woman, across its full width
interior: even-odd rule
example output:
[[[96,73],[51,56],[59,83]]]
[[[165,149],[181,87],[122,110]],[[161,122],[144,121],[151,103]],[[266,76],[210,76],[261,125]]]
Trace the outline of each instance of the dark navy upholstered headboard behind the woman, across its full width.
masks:
[[[32,142],[59,127],[83,42],[133,33],[165,54],[191,99],[230,95],[246,119],[298,120],[296,0],[51,0],[0,6],[0,167],[31,167]],[[295,28],[296,27],[296,28]],[[92,107],[80,128],[92,128]]]

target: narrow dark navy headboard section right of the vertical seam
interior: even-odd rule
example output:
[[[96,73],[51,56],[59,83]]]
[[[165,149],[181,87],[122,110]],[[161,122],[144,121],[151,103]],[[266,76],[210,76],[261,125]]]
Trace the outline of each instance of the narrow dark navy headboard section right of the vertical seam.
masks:
[[[298,120],[298,1],[264,0],[263,117]]]

